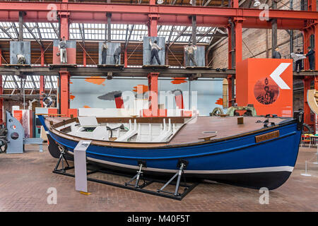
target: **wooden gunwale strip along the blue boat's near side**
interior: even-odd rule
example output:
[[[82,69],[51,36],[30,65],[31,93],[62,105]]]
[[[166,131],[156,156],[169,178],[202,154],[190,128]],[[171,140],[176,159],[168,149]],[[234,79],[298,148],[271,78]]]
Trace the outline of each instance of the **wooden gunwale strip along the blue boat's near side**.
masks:
[[[281,121],[281,123],[275,125],[275,126],[270,126],[270,127],[266,127],[266,128],[262,128],[262,129],[257,129],[254,131],[249,131],[246,133],[239,133],[235,136],[227,136],[224,138],[216,138],[210,141],[199,141],[199,142],[193,142],[193,143],[180,143],[180,144],[173,144],[173,145],[167,145],[167,143],[170,142],[161,142],[161,143],[141,143],[141,142],[116,142],[116,141],[100,141],[100,140],[95,140],[95,139],[90,139],[90,138],[80,138],[78,136],[71,136],[67,133],[58,131],[57,129],[54,128],[54,125],[49,126],[49,131],[51,131],[52,133],[54,133],[54,135],[60,136],[61,138],[66,138],[69,139],[71,141],[76,141],[79,142],[81,140],[89,140],[92,141],[92,145],[97,145],[97,146],[101,146],[101,147],[107,147],[107,148],[124,148],[124,149],[166,149],[166,148],[179,148],[179,147],[190,147],[190,146],[195,146],[195,145],[205,145],[208,143],[217,143],[220,141],[228,141],[228,140],[232,140],[234,138],[240,138],[242,136],[248,136],[250,134],[253,133],[259,133],[259,132],[263,132],[263,131],[268,131],[271,129],[275,129],[275,128],[279,128],[281,126],[285,126],[288,124],[293,124],[296,123],[296,119],[293,118],[285,118],[285,117],[279,117],[280,119],[287,119],[287,121]],[[76,118],[74,118],[76,119]],[[74,120],[73,119],[73,120]],[[45,119],[47,120],[47,119]],[[73,121],[71,121],[73,122]],[[71,123],[70,122],[70,123]],[[66,125],[66,124],[64,124]],[[151,145],[152,144],[152,145]],[[151,146],[149,146],[151,145]]]

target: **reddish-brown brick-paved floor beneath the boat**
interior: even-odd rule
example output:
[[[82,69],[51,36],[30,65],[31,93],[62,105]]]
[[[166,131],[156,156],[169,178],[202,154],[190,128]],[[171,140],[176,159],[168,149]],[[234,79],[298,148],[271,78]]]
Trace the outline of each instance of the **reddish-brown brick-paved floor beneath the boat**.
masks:
[[[295,170],[280,188],[270,191],[269,204],[259,204],[258,190],[226,184],[199,184],[182,201],[88,182],[90,195],[74,190],[74,179],[53,174],[57,160],[36,146],[25,153],[0,154],[0,211],[318,211],[316,148],[300,148]],[[112,179],[119,179],[112,176]],[[57,204],[47,203],[47,189],[57,189]]]

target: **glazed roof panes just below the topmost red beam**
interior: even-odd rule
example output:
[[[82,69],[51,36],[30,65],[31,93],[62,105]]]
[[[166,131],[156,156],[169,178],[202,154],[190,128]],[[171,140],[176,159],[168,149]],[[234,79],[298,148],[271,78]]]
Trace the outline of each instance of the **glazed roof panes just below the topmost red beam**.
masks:
[[[57,39],[57,34],[54,32],[54,28],[58,30],[58,23],[25,23],[29,30],[23,26],[23,37],[25,40],[34,40],[35,36],[37,39],[42,40],[53,40]],[[18,23],[8,23],[0,22],[2,29],[6,30],[13,39],[18,39]],[[54,28],[53,28],[54,26]],[[71,23],[70,24],[70,39],[71,40],[82,40],[82,35],[84,35],[85,40],[105,40],[105,35],[107,36],[107,31],[105,31],[106,25],[102,23]],[[112,24],[112,40],[122,41],[126,40],[126,37],[129,37],[131,28],[134,28],[131,32],[130,40],[133,42],[138,42],[144,36],[148,35],[148,28],[146,25],[128,25],[127,32],[126,24]],[[183,33],[182,31],[185,26],[172,26],[172,25],[161,25],[158,26],[160,30],[158,31],[158,36],[165,37],[167,42],[170,37],[170,42],[189,42],[192,34],[192,27],[187,27]],[[198,34],[198,39],[206,35],[206,31],[210,28],[208,27],[197,27],[196,33]],[[0,39],[11,39],[6,32],[0,30]],[[40,32],[40,34],[39,34]],[[210,33],[213,30],[210,31]],[[181,35],[180,35],[181,34]],[[180,35],[178,37],[178,35]],[[177,38],[178,37],[178,38]],[[177,38],[177,40],[175,40]],[[208,43],[209,38],[203,37],[200,39],[200,43]]]

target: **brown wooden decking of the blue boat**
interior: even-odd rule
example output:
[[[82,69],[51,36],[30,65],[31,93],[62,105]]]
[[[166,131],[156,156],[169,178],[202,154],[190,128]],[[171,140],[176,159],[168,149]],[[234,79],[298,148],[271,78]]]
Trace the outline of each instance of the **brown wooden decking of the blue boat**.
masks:
[[[187,145],[190,143],[202,143],[213,141],[232,136],[238,136],[242,133],[249,133],[264,129],[263,121],[269,119],[269,126],[271,122],[276,125],[285,119],[281,118],[265,118],[265,117],[244,117],[244,124],[237,124],[238,117],[197,117],[191,119],[187,124],[175,134],[168,143],[122,143],[112,141],[96,141],[100,145],[111,145],[118,147],[131,147],[131,148],[151,148],[163,147],[166,145]],[[70,118],[65,117],[48,117],[47,126],[49,121],[51,124],[57,124],[63,120]],[[261,121],[257,123],[257,121]],[[67,136],[67,135],[66,135]],[[72,138],[73,139],[73,138]]]

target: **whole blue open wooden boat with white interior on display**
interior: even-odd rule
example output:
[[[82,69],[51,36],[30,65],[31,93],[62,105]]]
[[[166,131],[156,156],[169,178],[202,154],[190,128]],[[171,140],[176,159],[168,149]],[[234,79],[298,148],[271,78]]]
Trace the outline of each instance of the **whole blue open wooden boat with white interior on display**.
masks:
[[[87,160],[145,174],[184,175],[253,189],[276,189],[293,172],[302,112],[276,117],[45,117],[48,135],[68,153],[90,140]],[[239,123],[240,121],[240,123]]]

